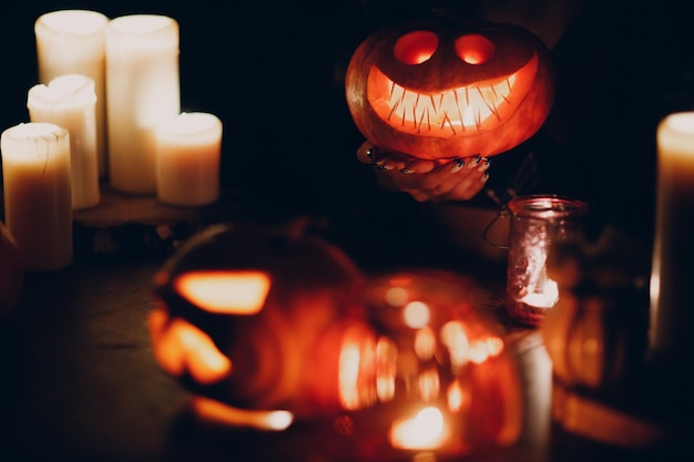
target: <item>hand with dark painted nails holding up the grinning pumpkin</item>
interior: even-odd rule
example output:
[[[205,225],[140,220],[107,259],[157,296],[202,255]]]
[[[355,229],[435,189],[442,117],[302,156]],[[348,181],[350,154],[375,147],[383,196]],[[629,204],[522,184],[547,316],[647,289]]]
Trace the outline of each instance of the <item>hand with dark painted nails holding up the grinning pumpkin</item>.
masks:
[[[469,201],[489,179],[490,161],[481,156],[427,161],[385,152],[365,142],[357,150],[357,158],[375,165],[390,188],[417,202]]]

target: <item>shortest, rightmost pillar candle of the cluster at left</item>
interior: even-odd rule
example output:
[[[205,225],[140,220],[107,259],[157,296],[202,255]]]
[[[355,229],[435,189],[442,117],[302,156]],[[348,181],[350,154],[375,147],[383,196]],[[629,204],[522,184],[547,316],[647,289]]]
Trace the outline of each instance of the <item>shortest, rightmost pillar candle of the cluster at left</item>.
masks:
[[[183,113],[156,132],[156,193],[173,205],[205,205],[220,197],[222,121]]]

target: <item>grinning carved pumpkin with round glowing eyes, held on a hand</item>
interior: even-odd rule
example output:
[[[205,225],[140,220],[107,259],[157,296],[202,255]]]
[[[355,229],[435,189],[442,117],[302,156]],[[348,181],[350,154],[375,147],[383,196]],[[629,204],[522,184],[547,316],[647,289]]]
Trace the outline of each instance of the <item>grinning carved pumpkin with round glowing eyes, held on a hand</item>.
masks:
[[[507,152],[542,126],[554,101],[547,47],[502,23],[386,27],[357,48],[345,79],[361,134],[426,160]]]

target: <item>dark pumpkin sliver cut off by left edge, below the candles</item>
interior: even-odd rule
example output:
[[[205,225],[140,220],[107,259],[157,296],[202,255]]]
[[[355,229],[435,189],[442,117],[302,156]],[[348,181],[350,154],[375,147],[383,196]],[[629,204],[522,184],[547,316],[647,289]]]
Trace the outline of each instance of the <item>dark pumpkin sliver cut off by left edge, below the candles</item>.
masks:
[[[0,222],[0,317],[10,312],[22,291],[23,266],[10,229]]]

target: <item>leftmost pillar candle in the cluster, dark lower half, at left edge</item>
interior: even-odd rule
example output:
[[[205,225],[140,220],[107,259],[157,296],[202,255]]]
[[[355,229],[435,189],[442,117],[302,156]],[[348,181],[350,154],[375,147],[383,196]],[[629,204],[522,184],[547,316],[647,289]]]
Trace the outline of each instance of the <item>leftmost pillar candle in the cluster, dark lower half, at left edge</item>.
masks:
[[[70,134],[52,123],[22,123],[2,132],[4,220],[24,269],[72,263]]]

